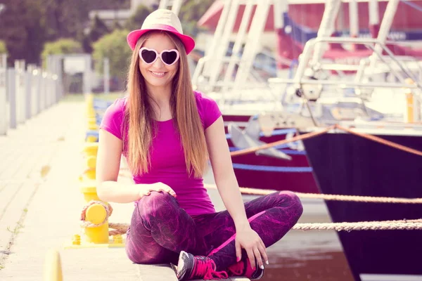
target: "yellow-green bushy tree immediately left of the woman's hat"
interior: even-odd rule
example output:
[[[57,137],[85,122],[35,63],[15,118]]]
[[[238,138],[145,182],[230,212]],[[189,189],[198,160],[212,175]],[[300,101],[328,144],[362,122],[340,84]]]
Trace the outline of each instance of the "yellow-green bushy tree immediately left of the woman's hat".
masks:
[[[127,67],[132,55],[132,50],[127,46],[126,36],[128,30],[115,30],[114,32],[101,37],[93,45],[92,53],[96,61],[96,71],[103,72],[103,59],[110,61],[110,75],[124,81],[127,74]]]

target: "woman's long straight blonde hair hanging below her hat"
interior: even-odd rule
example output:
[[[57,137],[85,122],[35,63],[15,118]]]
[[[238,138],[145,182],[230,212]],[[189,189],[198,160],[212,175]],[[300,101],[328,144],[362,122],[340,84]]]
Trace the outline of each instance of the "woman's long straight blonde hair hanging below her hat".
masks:
[[[146,174],[151,169],[150,148],[155,133],[154,110],[139,70],[139,49],[152,33],[147,32],[139,38],[132,53],[127,75],[129,97],[123,124],[129,128],[124,128],[124,131],[128,131],[127,139],[124,139],[124,149],[127,149],[127,161],[134,175]],[[205,173],[208,154],[203,125],[193,93],[188,58],[181,41],[173,34],[163,33],[172,40],[180,53],[179,69],[172,80],[172,96],[170,97],[173,124],[179,132],[184,148],[186,171],[189,176],[193,174],[196,178],[200,178]],[[125,136],[124,133],[123,136]]]

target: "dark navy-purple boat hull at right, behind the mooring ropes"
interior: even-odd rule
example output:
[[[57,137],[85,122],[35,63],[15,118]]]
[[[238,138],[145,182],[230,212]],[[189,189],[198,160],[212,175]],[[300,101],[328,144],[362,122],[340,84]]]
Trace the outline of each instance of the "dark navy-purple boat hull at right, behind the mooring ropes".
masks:
[[[422,151],[421,136],[378,136]],[[422,197],[422,157],[347,133],[303,141],[319,190],[325,194]],[[333,222],[422,218],[421,204],[326,202]],[[362,274],[421,275],[422,230],[338,233],[356,280]],[[375,280],[375,279],[374,279]],[[378,279],[377,279],[378,280]]]

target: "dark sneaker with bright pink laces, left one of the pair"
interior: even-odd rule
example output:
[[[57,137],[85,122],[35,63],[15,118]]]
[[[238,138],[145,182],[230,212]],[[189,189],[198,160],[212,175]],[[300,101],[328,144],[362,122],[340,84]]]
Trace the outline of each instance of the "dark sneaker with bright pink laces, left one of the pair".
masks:
[[[225,271],[216,271],[215,268],[215,262],[212,259],[181,251],[175,271],[179,280],[219,280],[228,277]]]

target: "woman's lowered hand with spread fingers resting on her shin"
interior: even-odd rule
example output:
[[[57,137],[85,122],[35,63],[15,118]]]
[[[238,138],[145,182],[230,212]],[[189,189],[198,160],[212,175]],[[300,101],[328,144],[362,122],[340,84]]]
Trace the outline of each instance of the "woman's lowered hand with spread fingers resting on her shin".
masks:
[[[237,261],[242,258],[242,248],[245,249],[248,254],[250,266],[256,268],[264,268],[264,262],[268,264],[267,251],[265,249],[264,242],[260,235],[255,230],[252,230],[250,226],[245,226],[239,230],[236,230],[236,257]],[[257,264],[255,264],[255,259]]]

